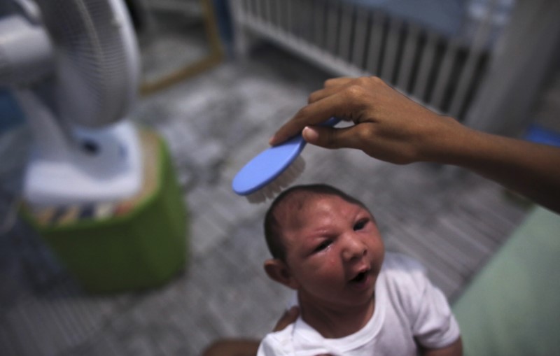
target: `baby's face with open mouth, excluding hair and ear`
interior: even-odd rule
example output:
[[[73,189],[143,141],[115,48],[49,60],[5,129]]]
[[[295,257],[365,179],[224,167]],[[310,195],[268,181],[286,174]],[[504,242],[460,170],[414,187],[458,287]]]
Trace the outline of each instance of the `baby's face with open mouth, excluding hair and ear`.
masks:
[[[337,196],[284,219],[286,264],[300,299],[325,306],[358,306],[372,300],[384,245],[372,215]]]

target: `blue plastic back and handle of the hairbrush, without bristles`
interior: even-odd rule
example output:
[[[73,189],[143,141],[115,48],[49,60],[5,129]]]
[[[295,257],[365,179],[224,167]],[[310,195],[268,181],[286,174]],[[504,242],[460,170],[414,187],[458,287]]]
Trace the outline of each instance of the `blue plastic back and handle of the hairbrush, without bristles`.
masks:
[[[339,121],[338,118],[330,118],[323,126],[335,126]],[[233,191],[239,195],[248,195],[265,187],[288,169],[306,143],[302,135],[298,134],[284,143],[260,152],[233,178]]]

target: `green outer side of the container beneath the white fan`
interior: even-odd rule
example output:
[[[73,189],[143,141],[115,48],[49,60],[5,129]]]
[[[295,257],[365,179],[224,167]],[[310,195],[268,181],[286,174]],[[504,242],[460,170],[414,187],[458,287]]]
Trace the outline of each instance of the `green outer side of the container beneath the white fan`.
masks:
[[[155,136],[144,130],[143,135]],[[124,215],[45,225],[22,215],[88,292],[162,285],[186,264],[188,214],[167,145],[155,136],[158,170],[153,192]]]

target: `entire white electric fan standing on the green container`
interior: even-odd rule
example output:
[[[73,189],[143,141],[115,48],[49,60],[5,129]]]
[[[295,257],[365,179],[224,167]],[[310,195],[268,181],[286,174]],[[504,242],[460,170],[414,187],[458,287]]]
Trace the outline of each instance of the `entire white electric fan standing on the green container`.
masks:
[[[23,182],[33,206],[131,197],[141,143],[125,117],[137,96],[139,50],[121,0],[3,1],[0,85],[34,137]]]

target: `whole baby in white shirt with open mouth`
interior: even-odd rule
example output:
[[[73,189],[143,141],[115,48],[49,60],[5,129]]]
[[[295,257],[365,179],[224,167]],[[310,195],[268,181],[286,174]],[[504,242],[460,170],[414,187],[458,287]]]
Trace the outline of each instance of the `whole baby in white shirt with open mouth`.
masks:
[[[444,294],[385,252],[370,211],[328,185],[284,191],[265,216],[267,275],[297,292],[300,317],[258,355],[461,355]]]

